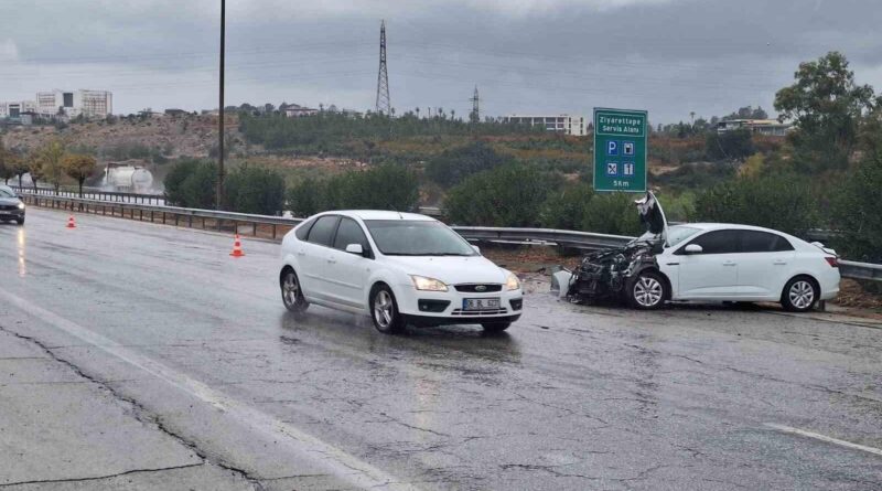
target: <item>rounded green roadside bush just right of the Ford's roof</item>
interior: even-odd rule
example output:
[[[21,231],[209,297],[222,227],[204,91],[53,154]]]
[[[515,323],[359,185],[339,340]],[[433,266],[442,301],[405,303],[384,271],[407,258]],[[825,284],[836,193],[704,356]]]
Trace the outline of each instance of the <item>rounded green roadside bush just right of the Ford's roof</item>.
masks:
[[[542,204],[561,184],[558,175],[537,166],[497,167],[452,188],[445,214],[462,225],[537,226]]]

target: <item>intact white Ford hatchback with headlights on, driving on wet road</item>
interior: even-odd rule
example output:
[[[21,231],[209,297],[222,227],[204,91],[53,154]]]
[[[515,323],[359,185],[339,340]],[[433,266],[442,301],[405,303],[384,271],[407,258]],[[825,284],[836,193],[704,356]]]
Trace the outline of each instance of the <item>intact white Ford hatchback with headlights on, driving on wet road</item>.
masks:
[[[451,323],[504,331],[524,305],[514,274],[429,216],[320,213],[284,236],[281,254],[288,310],[301,313],[315,303],[368,314],[385,333]]]

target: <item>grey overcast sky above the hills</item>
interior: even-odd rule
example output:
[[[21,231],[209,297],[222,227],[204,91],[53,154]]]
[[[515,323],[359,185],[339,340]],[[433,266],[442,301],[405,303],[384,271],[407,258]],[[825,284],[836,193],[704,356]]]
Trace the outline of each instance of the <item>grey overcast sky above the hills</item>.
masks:
[[[115,113],[217,106],[219,0],[2,0],[0,100],[114,92]],[[374,106],[379,23],[398,113],[772,109],[842,51],[882,89],[880,0],[227,0],[227,105]]]

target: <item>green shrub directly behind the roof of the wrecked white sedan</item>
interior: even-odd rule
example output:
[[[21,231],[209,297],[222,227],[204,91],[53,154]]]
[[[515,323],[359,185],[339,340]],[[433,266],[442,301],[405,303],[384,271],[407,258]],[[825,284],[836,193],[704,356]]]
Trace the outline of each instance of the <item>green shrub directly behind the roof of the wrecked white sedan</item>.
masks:
[[[696,198],[697,218],[775,228],[803,235],[817,224],[818,201],[796,174],[734,179]]]

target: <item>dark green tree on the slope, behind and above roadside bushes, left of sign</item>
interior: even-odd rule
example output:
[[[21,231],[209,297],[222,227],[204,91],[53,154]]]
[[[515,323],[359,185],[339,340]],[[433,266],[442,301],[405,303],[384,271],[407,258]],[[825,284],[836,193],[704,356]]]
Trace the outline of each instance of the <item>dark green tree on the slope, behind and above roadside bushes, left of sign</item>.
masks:
[[[464,147],[447,150],[426,166],[426,175],[432,181],[452,186],[465,178],[508,162],[487,143],[476,140]]]

